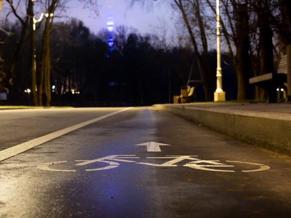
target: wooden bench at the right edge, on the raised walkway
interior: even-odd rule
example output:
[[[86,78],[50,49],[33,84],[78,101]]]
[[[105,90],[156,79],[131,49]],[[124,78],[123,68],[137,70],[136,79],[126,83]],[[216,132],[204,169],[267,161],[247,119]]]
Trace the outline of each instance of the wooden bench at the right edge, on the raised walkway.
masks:
[[[276,102],[276,90],[282,87],[286,90],[287,83],[287,55],[284,55],[279,63],[277,73],[263,74],[258,77],[249,78],[249,83],[263,88],[268,94],[268,103]]]

